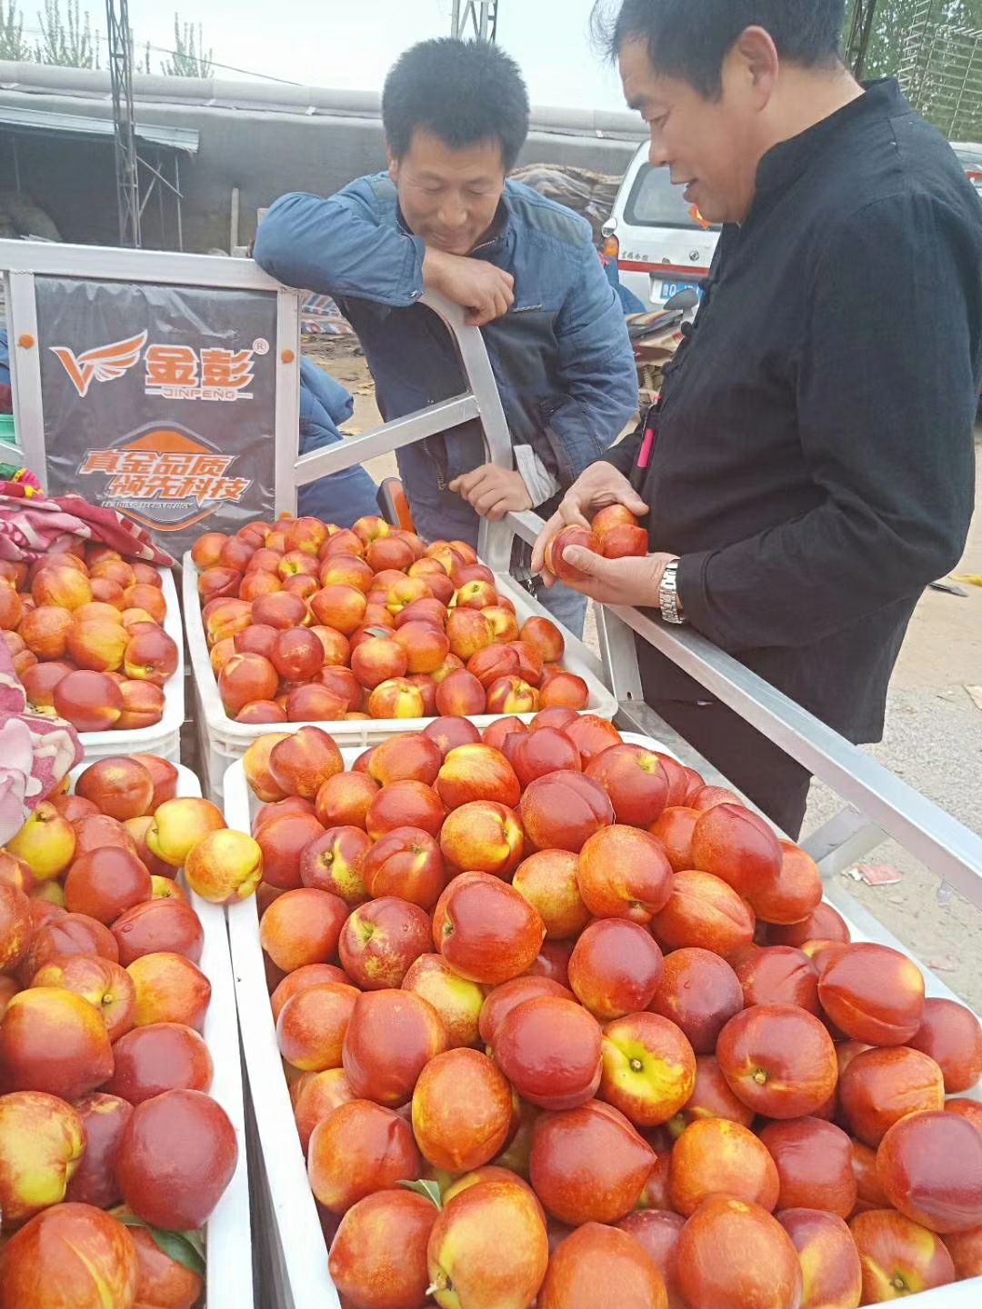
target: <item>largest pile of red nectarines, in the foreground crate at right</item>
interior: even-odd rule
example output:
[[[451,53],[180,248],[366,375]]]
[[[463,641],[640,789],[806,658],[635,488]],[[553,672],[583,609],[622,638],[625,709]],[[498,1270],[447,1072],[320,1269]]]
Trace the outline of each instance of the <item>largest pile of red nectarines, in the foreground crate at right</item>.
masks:
[[[348,1309],[856,1309],[982,1275],[982,1029],[591,715],[253,744],[259,937]],[[953,1097],[953,1098],[948,1098]]]

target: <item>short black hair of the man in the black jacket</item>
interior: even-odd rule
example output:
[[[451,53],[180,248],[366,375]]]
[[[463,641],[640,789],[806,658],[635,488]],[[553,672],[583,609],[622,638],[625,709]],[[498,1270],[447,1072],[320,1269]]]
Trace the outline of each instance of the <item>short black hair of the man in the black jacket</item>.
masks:
[[[611,12],[611,9],[614,12]],[[834,67],[846,0],[622,0],[593,7],[593,30],[613,60],[640,39],[656,72],[707,98],[723,88],[723,60],[746,27],[770,33],[778,54],[805,68]]]

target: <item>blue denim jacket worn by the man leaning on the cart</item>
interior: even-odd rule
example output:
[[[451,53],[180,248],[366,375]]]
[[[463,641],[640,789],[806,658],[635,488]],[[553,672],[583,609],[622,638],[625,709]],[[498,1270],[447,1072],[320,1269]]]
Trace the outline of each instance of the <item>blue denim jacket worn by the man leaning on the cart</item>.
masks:
[[[418,301],[424,245],[405,226],[386,173],[325,200],[284,195],[266,215],[255,259],[287,285],[330,295],[350,319],[386,420],[464,387],[453,344]],[[516,445],[530,445],[568,486],[617,439],[638,406],[623,312],[577,215],[508,182],[496,234],[475,258],[515,278],[515,304],[482,329]],[[423,535],[477,538],[473,511],[446,491],[484,462],[479,427],[464,424],[399,452]]]

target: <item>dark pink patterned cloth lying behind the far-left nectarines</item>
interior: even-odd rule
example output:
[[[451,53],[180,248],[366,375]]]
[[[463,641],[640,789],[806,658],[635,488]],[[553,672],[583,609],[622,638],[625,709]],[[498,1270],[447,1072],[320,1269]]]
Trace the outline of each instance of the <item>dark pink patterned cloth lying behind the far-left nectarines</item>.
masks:
[[[151,534],[114,509],[77,495],[56,499],[31,493],[21,482],[0,482],[0,559],[37,559],[72,541],[97,541],[130,559],[170,568],[172,555]]]

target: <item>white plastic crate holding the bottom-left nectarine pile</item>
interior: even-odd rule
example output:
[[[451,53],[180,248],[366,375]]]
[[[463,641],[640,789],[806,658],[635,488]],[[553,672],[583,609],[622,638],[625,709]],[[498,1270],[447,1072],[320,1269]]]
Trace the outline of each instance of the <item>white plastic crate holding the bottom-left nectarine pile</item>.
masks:
[[[86,757],[73,770],[72,783],[93,762],[93,757]],[[200,796],[202,793],[198,778],[189,768],[181,766],[178,766],[177,793],[179,796]],[[242,1064],[225,911],[220,905],[209,905],[195,895],[183,884],[183,876],[182,885],[185,885],[189,899],[202,922],[204,948],[198,966],[211,982],[211,1004],[203,1033],[215,1064],[215,1077],[208,1094],[228,1114],[236,1130],[238,1144],[236,1172],[206,1229],[206,1309],[251,1309],[253,1258],[246,1131],[242,1109]]]

